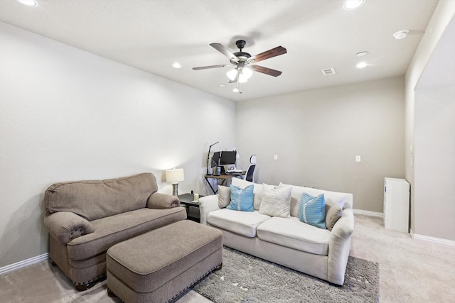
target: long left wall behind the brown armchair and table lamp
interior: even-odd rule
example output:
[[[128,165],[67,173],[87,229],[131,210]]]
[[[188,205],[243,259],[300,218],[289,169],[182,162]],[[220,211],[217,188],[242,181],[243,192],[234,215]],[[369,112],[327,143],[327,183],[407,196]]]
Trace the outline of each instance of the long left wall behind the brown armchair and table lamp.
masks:
[[[0,22],[0,268],[48,251],[43,193],[54,182],[182,167],[180,192],[207,194],[210,128],[235,103]],[[170,67],[171,68],[171,67]]]

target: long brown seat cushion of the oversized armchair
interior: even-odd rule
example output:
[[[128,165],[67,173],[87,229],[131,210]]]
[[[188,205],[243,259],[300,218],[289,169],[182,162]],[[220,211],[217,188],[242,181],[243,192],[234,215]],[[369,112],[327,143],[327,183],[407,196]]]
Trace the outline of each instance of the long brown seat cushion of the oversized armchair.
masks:
[[[184,207],[172,209],[137,209],[91,221],[93,233],[75,238],[68,246],[68,258],[84,260],[104,253],[115,243],[138,236],[146,231],[185,220]]]

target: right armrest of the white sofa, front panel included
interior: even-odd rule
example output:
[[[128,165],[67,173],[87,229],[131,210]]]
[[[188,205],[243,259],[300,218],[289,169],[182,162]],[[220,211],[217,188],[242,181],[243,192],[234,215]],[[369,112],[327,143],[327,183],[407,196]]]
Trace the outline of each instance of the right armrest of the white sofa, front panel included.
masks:
[[[353,209],[343,209],[328,241],[328,281],[343,285],[350,251],[350,236],[354,231]]]

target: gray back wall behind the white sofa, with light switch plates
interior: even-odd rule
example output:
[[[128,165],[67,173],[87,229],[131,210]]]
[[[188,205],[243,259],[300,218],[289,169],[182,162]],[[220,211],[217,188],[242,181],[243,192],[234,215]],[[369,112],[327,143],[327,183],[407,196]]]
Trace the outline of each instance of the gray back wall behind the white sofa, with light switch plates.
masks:
[[[257,182],[351,192],[382,213],[384,177],[405,176],[404,116],[403,77],[242,101],[240,163],[257,154]]]

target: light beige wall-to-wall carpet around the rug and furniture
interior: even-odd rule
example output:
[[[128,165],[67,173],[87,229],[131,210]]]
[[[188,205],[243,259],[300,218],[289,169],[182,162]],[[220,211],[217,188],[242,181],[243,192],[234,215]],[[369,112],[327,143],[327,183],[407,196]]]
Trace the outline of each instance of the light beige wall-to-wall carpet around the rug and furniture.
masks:
[[[452,302],[455,246],[416,240],[387,231],[382,218],[355,214],[350,255],[379,263],[380,302]],[[48,261],[0,276],[0,302],[119,302],[107,296],[106,282],[85,292]],[[190,291],[178,303],[210,302]]]

